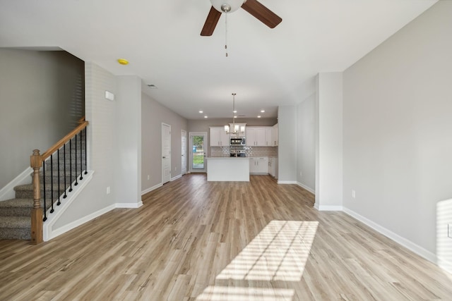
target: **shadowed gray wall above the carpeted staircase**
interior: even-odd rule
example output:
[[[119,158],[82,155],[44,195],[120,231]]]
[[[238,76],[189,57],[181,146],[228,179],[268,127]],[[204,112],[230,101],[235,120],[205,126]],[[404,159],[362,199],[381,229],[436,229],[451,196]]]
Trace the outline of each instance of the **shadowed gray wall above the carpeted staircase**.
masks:
[[[0,49],[0,188],[84,114],[84,63],[65,51]],[[31,178],[30,178],[31,181]]]

